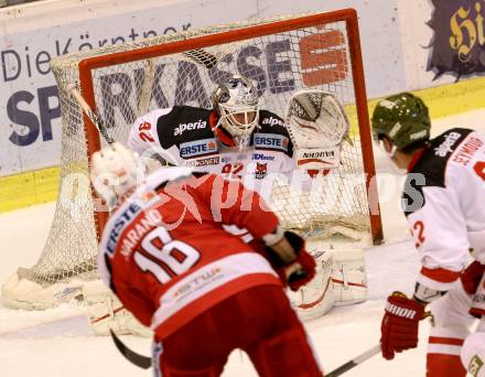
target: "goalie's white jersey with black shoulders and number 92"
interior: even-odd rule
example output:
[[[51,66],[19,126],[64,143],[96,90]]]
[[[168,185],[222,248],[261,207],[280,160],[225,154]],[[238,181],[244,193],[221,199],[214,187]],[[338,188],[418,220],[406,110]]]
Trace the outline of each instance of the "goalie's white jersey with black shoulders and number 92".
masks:
[[[259,111],[259,128],[245,149],[225,147],[214,134],[216,122],[215,114],[207,109],[158,109],[136,120],[128,147],[168,164],[239,177],[261,193],[263,182],[289,177],[295,169],[292,141],[277,115]],[[270,182],[267,184],[270,188]]]

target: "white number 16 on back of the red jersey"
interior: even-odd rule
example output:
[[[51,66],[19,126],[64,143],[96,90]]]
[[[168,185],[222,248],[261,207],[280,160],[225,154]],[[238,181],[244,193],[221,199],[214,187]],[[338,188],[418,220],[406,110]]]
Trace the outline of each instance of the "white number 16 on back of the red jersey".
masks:
[[[195,248],[172,239],[169,231],[162,227],[144,236],[141,249],[144,252],[136,251],[134,262],[143,272],[152,273],[162,284],[185,272],[201,259],[201,254]]]

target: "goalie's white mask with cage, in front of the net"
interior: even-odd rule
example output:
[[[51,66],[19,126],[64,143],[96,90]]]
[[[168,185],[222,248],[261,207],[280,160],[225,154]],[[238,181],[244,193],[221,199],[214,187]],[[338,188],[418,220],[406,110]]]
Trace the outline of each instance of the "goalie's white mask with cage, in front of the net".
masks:
[[[247,139],[259,119],[258,93],[246,77],[234,75],[213,94],[220,125],[234,139]]]

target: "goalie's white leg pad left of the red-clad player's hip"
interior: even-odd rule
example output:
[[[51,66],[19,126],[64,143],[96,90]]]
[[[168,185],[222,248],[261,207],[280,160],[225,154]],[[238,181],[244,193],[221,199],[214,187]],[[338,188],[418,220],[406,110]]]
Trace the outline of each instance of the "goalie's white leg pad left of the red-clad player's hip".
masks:
[[[153,335],[150,328],[143,326],[123,308],[101,280],[85,283],[83,295],[87,305],[89,326],[96,335],[109,335],[109,328],[118,335],[132,334],[144,337]]]

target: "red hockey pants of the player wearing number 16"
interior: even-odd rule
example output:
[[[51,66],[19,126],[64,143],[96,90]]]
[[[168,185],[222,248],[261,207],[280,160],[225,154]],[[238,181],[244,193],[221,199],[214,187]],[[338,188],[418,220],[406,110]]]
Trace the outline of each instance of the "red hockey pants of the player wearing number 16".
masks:
[[[259,376],[322,376],[283,290],[259,286],[214,305],[164,340],[154,340],[155,376],[219,376],[240,348]]]

